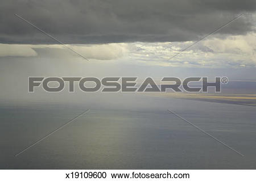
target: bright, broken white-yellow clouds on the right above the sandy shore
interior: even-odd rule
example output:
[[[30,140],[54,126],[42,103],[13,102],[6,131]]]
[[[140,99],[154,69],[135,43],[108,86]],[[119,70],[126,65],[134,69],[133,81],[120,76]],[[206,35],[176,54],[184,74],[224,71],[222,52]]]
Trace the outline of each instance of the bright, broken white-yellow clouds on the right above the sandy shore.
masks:
[[[129,44],[132,60],[138,64],[199,68],[238,68],[256,66],[256,33],[230,35],[201,41],[179,56],[168,60],[180,50],[193,44],[187,42],[132,43]]]

